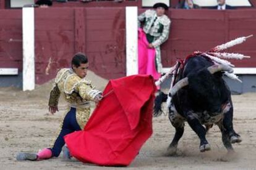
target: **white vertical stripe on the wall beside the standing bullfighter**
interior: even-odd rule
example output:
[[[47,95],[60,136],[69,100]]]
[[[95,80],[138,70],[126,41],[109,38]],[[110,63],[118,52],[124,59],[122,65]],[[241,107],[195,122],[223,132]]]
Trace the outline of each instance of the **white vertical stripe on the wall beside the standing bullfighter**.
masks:
[[[138,74],[138,7],[126,7],[126,75]]]

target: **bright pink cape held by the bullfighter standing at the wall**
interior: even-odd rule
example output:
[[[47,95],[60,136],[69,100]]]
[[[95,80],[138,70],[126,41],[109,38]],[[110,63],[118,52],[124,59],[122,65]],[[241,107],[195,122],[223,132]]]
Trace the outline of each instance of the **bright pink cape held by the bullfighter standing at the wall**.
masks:
[[[138,34],[139,75],[151,75],[155,80],[158,80],[161,75],[156,71],[156,51],[148,48],[147,36],[142,28],[139,28]]]

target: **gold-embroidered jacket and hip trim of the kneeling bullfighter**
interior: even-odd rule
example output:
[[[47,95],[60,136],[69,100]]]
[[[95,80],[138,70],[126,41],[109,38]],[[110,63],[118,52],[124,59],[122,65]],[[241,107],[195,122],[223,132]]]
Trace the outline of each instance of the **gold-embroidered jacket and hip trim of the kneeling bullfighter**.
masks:
[[[70,68],[62,68],[50,92],[49,107],[58,106],[62,95],[70,107],[76,108],[77,123],[83,129],[90,116],[90,101],[95,100],[98,94],[101,92],[90,81],[80,78]]]

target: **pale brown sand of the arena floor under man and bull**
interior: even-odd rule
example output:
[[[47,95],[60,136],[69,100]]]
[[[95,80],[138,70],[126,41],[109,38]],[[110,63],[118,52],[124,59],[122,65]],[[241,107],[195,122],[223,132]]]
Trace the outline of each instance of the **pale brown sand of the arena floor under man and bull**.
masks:
[[[108,80],[89,73],[88,79],[103,89]],[[21,92],[14,87],[0,88],[0,169],[119,169],[53,158],[45,161],[16,161],[17,152],[37,152],[48,147],[66,111],[63,100],[59,112],[48,113],[48,97],[53,81],[36,86],[35,91]],[[226,154],[221,133],[213,126],[207,134],[211,150],[200,153],[199,140],[188,124],[179,142],[176,156],[165,156],[173,139],[174,128],[168,116],[153,119],[153,135],[130,166],[122,169],[256,169],[256,93],[233,95],[234,128],[241,134],[236,153]],[[121,169],[121,168],[120,168]]]

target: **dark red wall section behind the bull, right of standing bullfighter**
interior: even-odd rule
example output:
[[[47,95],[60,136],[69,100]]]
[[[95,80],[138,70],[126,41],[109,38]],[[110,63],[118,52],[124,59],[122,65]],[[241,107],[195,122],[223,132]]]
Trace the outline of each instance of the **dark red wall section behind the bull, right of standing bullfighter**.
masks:
[[[254,34],[244,44],[227,52],[241,52],[252,59],[231,61],[237,67],[256,67],[255,10],[178,10],[169,11],[171,31],[168,42],[162,46],[163,66],[168,67],[176,58],[184,58],[194,51],[208,51],[240,36]]]

